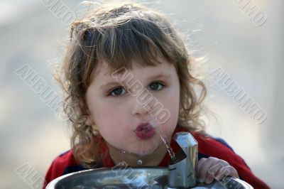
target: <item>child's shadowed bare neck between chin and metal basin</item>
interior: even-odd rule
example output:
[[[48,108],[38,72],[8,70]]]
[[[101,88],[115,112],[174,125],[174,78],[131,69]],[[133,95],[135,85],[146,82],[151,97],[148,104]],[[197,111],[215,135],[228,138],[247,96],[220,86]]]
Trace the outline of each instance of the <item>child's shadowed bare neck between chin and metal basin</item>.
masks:
[[[106,142],[107,143],[107,142]],[[160,144],[155,151],[146,156],[139,156],[136,153],[123,153],[121,149],[118,149],[111,144],[107,143],[109,148],[109,155],[111,156],[114,164],[117,165],[121,162],[125,162],[127,166],[158,166],[160,161],[163,160],[165,153],[167,153],[167,148],[165,144]],[[138,160],[142,161],[142,164],[138,164]]]

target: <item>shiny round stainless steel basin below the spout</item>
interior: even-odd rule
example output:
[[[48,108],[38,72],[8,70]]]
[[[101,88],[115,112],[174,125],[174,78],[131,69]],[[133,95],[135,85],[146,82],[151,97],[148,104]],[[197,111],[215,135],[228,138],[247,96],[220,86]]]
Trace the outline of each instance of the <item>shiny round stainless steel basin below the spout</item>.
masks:
[[[48,184],[48,189],[63,188],[168,188],[168,168],[97,168],[62,175]],[[198,183],[195,188],[252,188],[237,178],[223,178],[209,185]]]

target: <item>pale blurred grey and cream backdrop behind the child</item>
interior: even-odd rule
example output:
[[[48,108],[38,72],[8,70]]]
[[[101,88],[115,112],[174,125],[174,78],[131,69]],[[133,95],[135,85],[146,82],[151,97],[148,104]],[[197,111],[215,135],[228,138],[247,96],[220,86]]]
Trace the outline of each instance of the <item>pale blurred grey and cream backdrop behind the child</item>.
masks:
[[[28,165],[35,177],[43,178],[53,159],[70,148],[65,121],[15,72],[28,65],[60,96],[51,73],[62,57],[68,18],[74,14],[62,19],[54,13],[56,8],[48,6],[51,2],[71,13],[80,4],[0,1],[0,188],[39,188],[17,171]],[[208,124],[209,133],[225,139],[271,188],[283,188],[283,1],[146,2],[168,15],[196,56],[207,55],[206,103],[219,117]],[[252,8],[258,15],[249,15]],[[208,73],[217,68],[267,112],[263,123],[257,123],[212,80]]]

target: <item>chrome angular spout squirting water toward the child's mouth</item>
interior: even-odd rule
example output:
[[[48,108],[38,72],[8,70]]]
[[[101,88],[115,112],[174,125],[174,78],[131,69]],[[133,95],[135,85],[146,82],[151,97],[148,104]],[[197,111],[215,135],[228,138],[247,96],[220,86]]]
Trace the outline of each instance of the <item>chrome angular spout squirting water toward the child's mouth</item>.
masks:
[[[197,185],[198,143],[192,134],[178,132],[173,139],[180,146],[168,165],[168,189],[192,188]]]

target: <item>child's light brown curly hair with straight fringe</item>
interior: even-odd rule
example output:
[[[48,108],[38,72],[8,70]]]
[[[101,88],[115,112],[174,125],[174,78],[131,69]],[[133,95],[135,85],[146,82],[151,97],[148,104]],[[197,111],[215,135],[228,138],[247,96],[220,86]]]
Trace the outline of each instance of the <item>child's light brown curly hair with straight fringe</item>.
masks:
[[[141,4],[100,4],[71,24],[70,42],[56,79],[64,90],[64,110],[72,124],[71,148],[77,161],[91,166],[104,156],[99,151],[99,131],[85,124],[85,95],[99,63],[107,63],[114,72],[131,69],[131,60],[143,67],[155,66],[159,57],[173,64],[178,73],[178,126],[204,133],[200,112],[207,90],[202,80],[190,74],[194,58],[165,16]],[[195,86],[201,88],[200,95]]]

